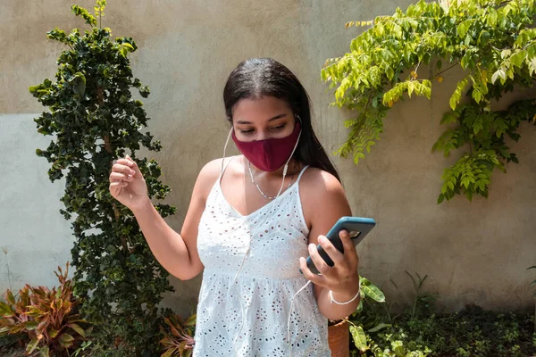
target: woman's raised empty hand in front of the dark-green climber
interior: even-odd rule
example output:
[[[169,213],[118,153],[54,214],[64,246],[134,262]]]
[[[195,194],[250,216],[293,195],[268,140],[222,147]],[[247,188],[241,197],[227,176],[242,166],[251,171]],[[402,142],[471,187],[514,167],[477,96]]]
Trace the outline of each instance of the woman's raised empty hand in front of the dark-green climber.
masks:
[[[147,183],[138,164],[127,155],[114,161],[110,173],[110,194],[134,211],[147,203]]]

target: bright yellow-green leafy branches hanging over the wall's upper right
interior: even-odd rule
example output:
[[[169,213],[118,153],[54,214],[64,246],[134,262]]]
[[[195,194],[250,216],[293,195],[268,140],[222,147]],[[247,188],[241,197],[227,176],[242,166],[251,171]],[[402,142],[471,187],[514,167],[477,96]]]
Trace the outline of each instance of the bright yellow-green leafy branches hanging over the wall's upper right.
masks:
[[[346,120],[348,140],[338,154],[364,158],[380,138],[383,118],[405,96],[431,98],[455,67],[464,76],[450,96],[448,126],[432,151],[448,156],[466,152],[442,176],[438,203],[455,195],[488,197],[494,169],[506,172],[518,162],[508,143],[521,137],[523,121],[536,120],[536,101],[524,99],[507,110],[495,101],[516,87],[533,87],[536,79],[536,6],[534,0],[452,0],[410,5],[392,16],[350,21],[347,28],[368,27],[352,40],[350,52],[328,59],[322,80],[334,88],[334,105],[356,111]],[[445,64],[446,63],[446,64]],[[423,65],[429,71],[423,73]],[[466,96],[466,98],[465,98]]]

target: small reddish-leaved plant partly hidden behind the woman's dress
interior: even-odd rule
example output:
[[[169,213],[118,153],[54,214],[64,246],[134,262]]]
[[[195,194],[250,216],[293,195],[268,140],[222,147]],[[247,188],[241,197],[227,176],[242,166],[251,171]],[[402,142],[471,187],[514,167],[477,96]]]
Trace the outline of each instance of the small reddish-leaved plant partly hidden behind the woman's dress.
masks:
[[[161,357],[190,357],[194,350],[194,335],[196,328],[196,315],[192,315],[182,322],[180,316],[172,314],[169,317],[164,317],[163,321],[168,326],[160,327],[160,332],[163,334],[163,339],[160,344],[163,345],[163,353]]]

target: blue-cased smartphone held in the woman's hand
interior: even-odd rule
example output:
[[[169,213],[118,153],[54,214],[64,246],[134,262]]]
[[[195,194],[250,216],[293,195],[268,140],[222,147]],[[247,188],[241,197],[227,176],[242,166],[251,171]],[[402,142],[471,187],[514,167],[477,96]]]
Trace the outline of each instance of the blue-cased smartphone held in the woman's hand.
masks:
[[[372,218],[363,218],[363,217],[342,217],[340,220],[335,223],[335,225],[330,229],[326,237],[331,241],[331,244],[339,250],[340,253],[344,253],[344,247],[342,246],[342,241],[339,237],[339,232],[346,229],[354,242],[354,246],[358,245],[364,237],[374,228],[376,221]],[[321,245],[316,246],[316,250],[323,258],[324,262],[330,267],[334,265],[331,261],[330,256],[326,253]],[[314,266],[314,262],[311,259],[311,256],[307,257],[307,267],[314,272],[315,274],[320,274],[319,271]],[[301,269],[299,270],[300,272]],[[303,273],[302,273],[303,274]]]

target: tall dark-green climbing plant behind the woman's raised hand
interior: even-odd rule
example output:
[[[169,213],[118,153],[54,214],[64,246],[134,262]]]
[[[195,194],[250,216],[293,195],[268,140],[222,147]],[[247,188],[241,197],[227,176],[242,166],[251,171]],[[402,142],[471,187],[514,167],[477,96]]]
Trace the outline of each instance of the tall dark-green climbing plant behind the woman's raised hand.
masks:
[[[51,181],[65,179],[61,212],[71,220],[75,237],[74,291],[82,300],[84,318],[96,327],[96,345],[106,355],[156,355],[163,322],[158,304],[172,286],[132,212],[109,193],[113,160],[130,154],[151,197],[163,199],[170,188],[159,181],[161,168],[155,160],[137,156],[142,146],[159,151],[161,145],[140,131],[149,118],[131,93],[149,95],[130,68],[129,54],[138,46],[131,37],[113,39],[111,29],[101,27],[105,4],[96,2],[95,15],[72,5],[71,11],[89,25],[84,32],[56,28],[47,33],[66,48],[57,60],[55,79],[29,87],[49,110],[35,119],[38,132],[54,137],[37,154],[52,164]],[[156,209],[163,217],[175,212],[162,203]]]

